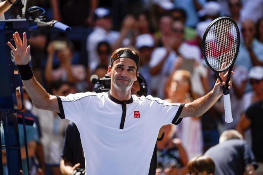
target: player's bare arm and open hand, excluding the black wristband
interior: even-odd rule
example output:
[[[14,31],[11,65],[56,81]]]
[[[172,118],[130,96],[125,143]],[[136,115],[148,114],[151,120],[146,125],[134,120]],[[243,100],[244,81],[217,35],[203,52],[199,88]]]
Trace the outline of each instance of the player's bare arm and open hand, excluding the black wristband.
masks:
[[[10,42],[7,44],[14,52],[16,64],[27,65],[29,63],[30,46],[27,46],[26,33],[23,33],[23,41],[18,32],[13,34],[13,38],[16,48]],[[23,80],[23,84],[36,108],[60,113],[56,96],[49,95],[34,76],[29,80]]]

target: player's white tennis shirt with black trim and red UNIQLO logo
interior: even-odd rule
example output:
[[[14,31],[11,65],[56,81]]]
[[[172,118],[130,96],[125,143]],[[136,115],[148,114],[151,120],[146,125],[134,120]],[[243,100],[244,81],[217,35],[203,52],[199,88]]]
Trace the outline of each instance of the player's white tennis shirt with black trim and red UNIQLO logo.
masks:
[[[119,101],[109,92],[57,98],[60,117],[79,129],[91,175],[148,174],[160,127],[178,124],[184,106],[150,95]]]

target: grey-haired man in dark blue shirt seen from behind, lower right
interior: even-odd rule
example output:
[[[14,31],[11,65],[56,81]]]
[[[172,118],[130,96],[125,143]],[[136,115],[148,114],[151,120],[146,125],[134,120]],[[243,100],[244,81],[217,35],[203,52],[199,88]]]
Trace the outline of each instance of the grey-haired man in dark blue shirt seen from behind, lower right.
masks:
[[[219,144],[205,152],[215,163],[215,175],[255,174],[257,163],[248,143],[236,130],[226,130]]]

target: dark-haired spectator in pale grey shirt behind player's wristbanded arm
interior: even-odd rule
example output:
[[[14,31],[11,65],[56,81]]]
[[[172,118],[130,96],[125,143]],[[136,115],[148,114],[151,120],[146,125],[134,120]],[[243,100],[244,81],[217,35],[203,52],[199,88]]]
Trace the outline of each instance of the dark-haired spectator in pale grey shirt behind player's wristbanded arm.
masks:
[[[55,81],[51,85],[51,91],[53,95],[68,95],[70,94],[71,87],[67,82]],[[52,175],[61,174],[59,169],[60,153],[69,120],[59,120],[57,113],[52,111],[37,108],[33,108],[32,110],[40,122],[42,131],[41,143],[44,148],[46,169],[50,168]]]

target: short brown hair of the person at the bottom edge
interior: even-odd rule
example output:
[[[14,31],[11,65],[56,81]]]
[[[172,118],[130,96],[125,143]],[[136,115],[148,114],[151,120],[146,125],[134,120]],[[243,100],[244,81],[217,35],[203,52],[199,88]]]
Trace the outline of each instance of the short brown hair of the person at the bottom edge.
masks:
[[[210,157],[206,155],[201,155],[194,157],[188,162],[187,171],[189,174],[200,172],[202,173],[204,171],[206,171],[208,174],[214,174],[215,164]]]

